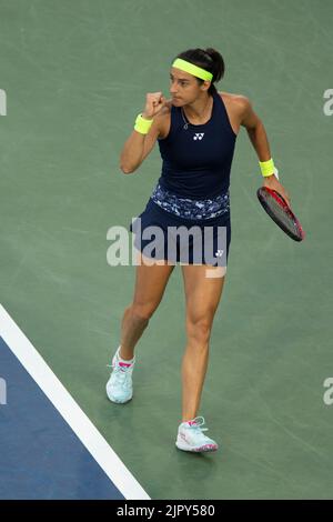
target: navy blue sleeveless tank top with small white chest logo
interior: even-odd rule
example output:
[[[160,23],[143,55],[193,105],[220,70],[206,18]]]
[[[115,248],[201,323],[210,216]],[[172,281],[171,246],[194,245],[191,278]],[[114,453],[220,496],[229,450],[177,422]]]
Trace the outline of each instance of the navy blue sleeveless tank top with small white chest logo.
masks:
[[[204,124],[190,123],[181,107],[171,106],[170,132],[158,140],[163,160],[159,184],[196,200],[228,192],[235,140],[218,92],[213,93],[211,119]]]

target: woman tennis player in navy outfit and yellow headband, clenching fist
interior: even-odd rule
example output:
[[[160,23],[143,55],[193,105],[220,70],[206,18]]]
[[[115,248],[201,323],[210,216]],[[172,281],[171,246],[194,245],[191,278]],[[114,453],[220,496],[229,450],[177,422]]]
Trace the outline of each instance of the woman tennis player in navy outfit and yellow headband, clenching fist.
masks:
[[[240,127],[245,127],[256,151],[263,184],[278,190],[289,202],[289,194],[278,181],[263,123],[246,97],[216,91],[214,83],[223,76],[224,61],[216,50],[190,49],[180,53],[170,71],[172,98],[165,100],[162,92],[147,94],[144,111],[138,116],[121,152],[121,169],[129,174],[138,169],[158,140],[163,165],[159,182],[139,217],[141,231],[138,232],[137,222],[131,227],[132,232],[138,232],[134,244],[140,252],[135,290],[123,314],[121,342],[112,360],[107,393],[112,402],[125,403],[132,399],[134,347],[161,302],[174,265],[181,263],[188,343],[182,361],[182,422],[175,444],[180,450],[192,452],[218,450],[216,442],[203,433],[206,431],[202,428],[204,419],[196,414],[213,319],[225,280],[231,239],[230,169]],[[163,237],[154,254],[150,251],[147,255],[147,239],[142,234],[150,225],[159,227]],[[198,252],[194,250],[202,242],[195,243],[189,234],[189,262],[182,262],[184,248],[178,239],[173,244],[175,254],[170,260],[165,247],[174,237],[168,231],[178,225],[188,231],[195,225],[201,232],[209,225],[214,249],[221,229],[224,230],[224,249],[218,249],[219,252],[226,250],[224,262],[218,265],[208,262],[204,254],[195,262]]]

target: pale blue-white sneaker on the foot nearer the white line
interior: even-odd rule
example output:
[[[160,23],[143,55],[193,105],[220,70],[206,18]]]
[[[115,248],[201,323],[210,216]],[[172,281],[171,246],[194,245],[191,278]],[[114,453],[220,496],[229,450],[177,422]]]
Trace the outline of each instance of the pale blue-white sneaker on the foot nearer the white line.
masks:
[[[124,404],[129,402],[133,396],[133,384],[132,384],[132,372],[134,369],[135,357],[130,367],[122,365],[119,361],[118,348],[112,359],[113,371],[107,382],[107,395],[112,402]]]

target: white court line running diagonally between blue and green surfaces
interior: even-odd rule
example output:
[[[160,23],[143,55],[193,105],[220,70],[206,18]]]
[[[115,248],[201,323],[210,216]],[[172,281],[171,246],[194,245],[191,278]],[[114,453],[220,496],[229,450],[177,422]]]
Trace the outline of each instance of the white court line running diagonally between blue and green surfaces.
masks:
[[[0,335],[123,496],[128,500],[150,500],[1,304]]]

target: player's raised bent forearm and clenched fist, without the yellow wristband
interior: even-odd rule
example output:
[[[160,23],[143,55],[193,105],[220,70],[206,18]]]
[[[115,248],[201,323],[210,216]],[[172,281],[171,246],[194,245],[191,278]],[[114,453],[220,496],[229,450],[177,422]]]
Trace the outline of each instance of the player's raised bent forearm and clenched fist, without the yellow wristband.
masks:
[[[153,123],[148,134],[141,134],[133,130],[130,138],[125,141],[120,154],[120,168],[124,174],[134,172],[153,149],[160,134],[160,119],[154,119],[154,117],[165,104],[167,100],[162,96],[162,92],[147,94],[145,109],[142,112],[142,118],[147,120],[153,119]]]

